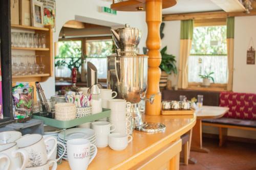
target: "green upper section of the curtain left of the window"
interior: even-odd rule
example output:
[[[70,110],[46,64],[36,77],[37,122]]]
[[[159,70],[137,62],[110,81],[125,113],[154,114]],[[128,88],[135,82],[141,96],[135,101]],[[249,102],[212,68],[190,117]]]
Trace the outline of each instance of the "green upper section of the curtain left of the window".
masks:
[[[182,20],[180,29],[180,39],[192,39],[194,29],[194,20]]]

